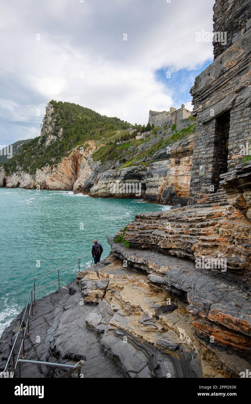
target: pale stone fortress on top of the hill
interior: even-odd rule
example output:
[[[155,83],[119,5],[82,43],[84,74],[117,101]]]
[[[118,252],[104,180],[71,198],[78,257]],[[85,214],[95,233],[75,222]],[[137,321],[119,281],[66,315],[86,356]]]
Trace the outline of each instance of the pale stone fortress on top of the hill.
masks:
[[[178,124],[181,120],[185,118],[189,118],[192,115],[192,112],[189,109],[185,108],[185,105],[182,104],[181,108],[176,109],[174,107],[170,108],[170,111],[149,111],[149,119],[148,123],[154,126],[162,126],[168,125],[172,126],[173,124]]]

